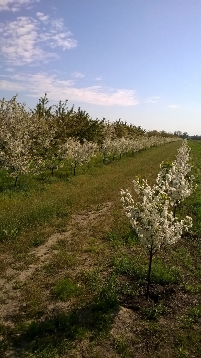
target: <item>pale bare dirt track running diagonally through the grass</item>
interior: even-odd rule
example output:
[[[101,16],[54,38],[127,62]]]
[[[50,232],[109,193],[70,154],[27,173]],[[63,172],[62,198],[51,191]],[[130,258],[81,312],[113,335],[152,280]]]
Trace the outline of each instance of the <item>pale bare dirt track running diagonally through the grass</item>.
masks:
[[[21,290],[18,287],[25,283],[27,279],[30,279],[35,270],[40,269],[44,263],[47,263],[51,259],[55,253],[55,250],[52,250],[52,246],[59,239],[66,240],[69,244],[72,244],[72,240],[75,240],[74,234],[76,230],[79,228],[86,231],[87,226],[104,216],[112,207],[112,204],[112,202],[107,202],[98,210],[83,210],[73,215],[67,232],[52,235],[43,245],[29,252],[28,255],[36,257],[37,261],[35,264],[29,265],[26,270],[21,272],[11,268],[7,269],[7,273],[13,273],[15,278],[11,281],[8,281],[6,278],[0,281],[0,289],[5,298],[5,302],[0,306],[0,317],[4,320],[5,324],[13,325],[12,316],[19,312]]]

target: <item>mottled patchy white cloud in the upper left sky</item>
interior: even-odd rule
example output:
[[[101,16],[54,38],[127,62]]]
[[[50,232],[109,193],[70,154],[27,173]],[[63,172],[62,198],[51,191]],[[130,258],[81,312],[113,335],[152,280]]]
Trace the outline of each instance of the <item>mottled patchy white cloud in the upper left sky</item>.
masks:
[[[62,50],[77,46],[63,19],[49,20],[48,15],[37,14],[37,19],[19,16],[13,22],[0,23],[0,49],[7,63],[35,65],[59,57],[44,50],[44,45]]]

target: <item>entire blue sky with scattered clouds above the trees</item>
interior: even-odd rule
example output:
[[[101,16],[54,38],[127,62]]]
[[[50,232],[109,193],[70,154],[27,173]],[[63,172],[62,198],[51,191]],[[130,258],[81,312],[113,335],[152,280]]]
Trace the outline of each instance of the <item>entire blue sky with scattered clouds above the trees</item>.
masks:
[[[0,0],[0,98],[201,135],[200,0]]]

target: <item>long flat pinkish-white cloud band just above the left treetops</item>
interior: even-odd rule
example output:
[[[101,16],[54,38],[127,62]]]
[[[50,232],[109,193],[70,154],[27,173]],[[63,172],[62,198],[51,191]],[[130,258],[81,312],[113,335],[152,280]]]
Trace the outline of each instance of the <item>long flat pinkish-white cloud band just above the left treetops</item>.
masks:
[[[29,96],[40,97],[47,93],[48,99],[85,102],[96,105],[131,106],[139,103],[135,91],[112,89],[103,86],[76,88],[74,81],[60,80],[56,75],[39,72],[36,74],[10,75],[10,81],[0,80],[0,89],[27,91]]]

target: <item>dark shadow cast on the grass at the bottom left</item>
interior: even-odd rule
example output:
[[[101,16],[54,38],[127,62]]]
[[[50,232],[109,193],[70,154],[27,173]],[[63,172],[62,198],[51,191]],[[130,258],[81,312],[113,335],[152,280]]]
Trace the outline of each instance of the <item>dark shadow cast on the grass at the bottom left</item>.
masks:
[[[66,354],[73,342],[93,341],[108,335],[119,303],[116,299],[96,299],[91,306],[70,313],[55,312],[52,317],[18,326],[14,351],[19,357],[54,358]]]

